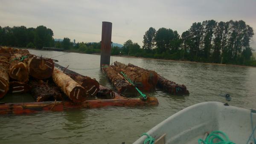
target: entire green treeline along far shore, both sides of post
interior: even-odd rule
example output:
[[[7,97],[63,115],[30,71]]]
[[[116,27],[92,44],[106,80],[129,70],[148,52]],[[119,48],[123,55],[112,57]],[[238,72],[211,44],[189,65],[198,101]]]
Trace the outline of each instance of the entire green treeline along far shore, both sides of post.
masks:
[[[143,47],[127,40],[122,48],[112,47],[111,55],[256,66],[250,47],[253,35],[252,27],[243,20],[205,20],[193,23],[182,35],[176,30],[150,27],[143,36]],[[100,53],[100,42],[73,43],[68,37],[55,41],[52,30],[45,26],[0,26],[0,45],[35,49],[46,46],[72,52]]]

